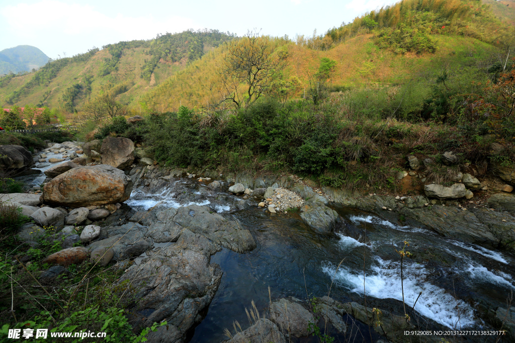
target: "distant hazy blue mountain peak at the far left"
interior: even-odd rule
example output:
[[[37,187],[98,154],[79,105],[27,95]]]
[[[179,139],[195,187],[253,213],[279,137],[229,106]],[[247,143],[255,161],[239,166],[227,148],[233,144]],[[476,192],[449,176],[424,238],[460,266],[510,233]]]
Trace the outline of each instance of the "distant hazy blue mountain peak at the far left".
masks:
[[[0,75],[18,74],[45,65],[50,58],[35,46],[18,45],[0,51]]]

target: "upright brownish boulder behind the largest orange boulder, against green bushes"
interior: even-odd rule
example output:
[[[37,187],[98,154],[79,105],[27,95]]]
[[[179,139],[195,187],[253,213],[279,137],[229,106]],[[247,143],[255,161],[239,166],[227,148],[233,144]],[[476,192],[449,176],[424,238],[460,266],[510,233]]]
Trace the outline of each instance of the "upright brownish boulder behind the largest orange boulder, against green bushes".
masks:
[[[107,137],[100,149],[102,164],[125,169],[134,162],[134,143],[129,138]]]

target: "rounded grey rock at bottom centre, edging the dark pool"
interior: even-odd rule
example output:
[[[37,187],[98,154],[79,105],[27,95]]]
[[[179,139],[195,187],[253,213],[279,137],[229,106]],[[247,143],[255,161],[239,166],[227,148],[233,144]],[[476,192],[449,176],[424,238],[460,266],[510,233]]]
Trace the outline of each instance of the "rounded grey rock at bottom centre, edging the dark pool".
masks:
[[[290,331],[295,337],[303,337],[313,333],[310,323],[315,323],[313,314],[300,303],[289,299],[272,302],[271,316],[283,332]]]

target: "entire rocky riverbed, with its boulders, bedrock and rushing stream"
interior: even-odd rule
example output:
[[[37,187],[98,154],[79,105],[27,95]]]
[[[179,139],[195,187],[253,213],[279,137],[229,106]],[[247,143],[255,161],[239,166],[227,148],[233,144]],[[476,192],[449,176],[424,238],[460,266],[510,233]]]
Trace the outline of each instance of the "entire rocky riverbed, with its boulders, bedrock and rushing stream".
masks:
[[[310,322],[324,321],[340,339],[368,335],[368,326],[372,341],[402,341],[402,331],[415,328],[503,326],[504,339],[514,337],[506,305],[515,288],[511,194],[491,196],[486,207],[422,195],[356,198],[290,176],[159,168],[138,163],[145,157],[128,153],[129,142],[106,144],[70,142],[38,152],[39,159],[54,153],[63,160],[38,161],[48,179],[30,176],[29,183],[40,183],[34,193],[9,197],[40,225],[20,231],[30,244],[29,232],[61,229],[63,250],[48,261],[66,267],[89,259],[125,270],[119,282],[138,290],[133,326],[168,322],[150,341],[220,341],[228,338],[225,328],[233,341],[263,335],[259,328],[273,341],[295,340],[312,334]],[[89,155],[74,157],[81,148]],[[299,212],[287,211],[294,207]],[[413,257],[403,261],[403,294],[396,250],[404,241]],[[75,242],[82,247],[72,248]],[[245,308],[266,318],[247,329]],[[234,332],[233,320],[241,330]]]

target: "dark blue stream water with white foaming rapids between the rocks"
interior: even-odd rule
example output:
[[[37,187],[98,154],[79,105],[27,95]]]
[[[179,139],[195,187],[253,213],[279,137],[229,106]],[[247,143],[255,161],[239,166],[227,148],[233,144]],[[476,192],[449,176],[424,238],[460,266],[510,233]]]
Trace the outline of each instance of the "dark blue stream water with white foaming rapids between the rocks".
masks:
[[[41,175],[23,179],[28,185],[39,185],[44,180]],[[420,328],[481,329],[480,304],[506,306],[506,297],[515,288],[515,259],[507,252],[444,238],[417,223],[387,221],[339,205],[331,207],[344,223],[333,236],[322,237],[298,213],[265,212],[258,201],[242,206],[240,196],[213,193],[195,179],[172,178],[157,191],[134,189],[126,202],[134,210],[156,205],[162,209],[209,206],[240,221],[258,243],[246,254],[224,248],[212,256],[211,262],[219,264],[224,275],[205,318],[191,333],[191,342],[227,339],[224,329],[233,331],[234,320],[247,328],[245,308],[253,300],[263,312],[270,301],[268,287],[272,300],[330,293],[338,301],[363,304],[366,296],[367,306],[403,315],[401,258],[396,250],[403,249],[404,241],[414,255],[402,261],[404,300],[409,308],[416,302],[412,317]]]

